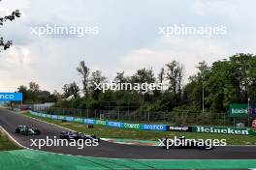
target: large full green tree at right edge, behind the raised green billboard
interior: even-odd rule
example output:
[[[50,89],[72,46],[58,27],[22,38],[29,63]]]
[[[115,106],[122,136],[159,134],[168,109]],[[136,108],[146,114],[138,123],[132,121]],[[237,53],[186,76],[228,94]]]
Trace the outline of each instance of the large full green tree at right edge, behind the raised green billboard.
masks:
[[[226,111],[230,103],[246,103],[249,97],[255,102],[255,63],[256,56],[240,53],[212,64],[206,81],[212,110]]]

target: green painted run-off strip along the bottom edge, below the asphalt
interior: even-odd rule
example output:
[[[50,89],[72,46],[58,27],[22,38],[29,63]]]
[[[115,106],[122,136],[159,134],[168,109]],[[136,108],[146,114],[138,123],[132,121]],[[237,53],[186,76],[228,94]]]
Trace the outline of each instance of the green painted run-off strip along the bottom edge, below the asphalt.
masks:
[[[33,150],[0,152],[1,170],[256,168],[254,160],[144,160],[66,156]]]

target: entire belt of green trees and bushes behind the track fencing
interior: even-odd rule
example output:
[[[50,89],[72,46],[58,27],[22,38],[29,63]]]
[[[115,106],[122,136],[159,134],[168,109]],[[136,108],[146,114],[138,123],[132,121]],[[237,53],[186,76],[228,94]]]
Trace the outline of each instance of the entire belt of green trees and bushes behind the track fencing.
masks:
[[[230,103],[246,103],[248,98],[250,103],[256,101],[255,66],[256,56],[242,53],[216,61],[210,67],[203,61],[197,66],[198,72],[191,75],[184,84],[184,67],[173,61],[156,73],[151,68],[143,68],[132,75],[125,75],[124,71],[120,71],[112,80],[114,83],[163,83],[163,90],[146,93],[141,90],[107,90],[103,93],[102,90],[95,90],[95,83],[110,81],[102,71],[90,72],[82,61],[77,68],[81,88],[76,82],[72,82],[63,86],[62,95],[57,92],[49,94],[47,91],[40,91],[38,85],[32,82],[29,89],[20,86],[18,91],[23,92],[27,102],[57,100],[54,107],[90,109],[90,114],[93,115],[95,109],[107,110],[109,119],[120,117],[131,121],[226,125],[233,124],[233,120],[227,119],[227,115],[223,114],[227,113]],[[203,92],[205,114],[202,114]],[[69,111],[70,114],[78,112],[85,113]],[[245,123],[246,119],[241,121]]]

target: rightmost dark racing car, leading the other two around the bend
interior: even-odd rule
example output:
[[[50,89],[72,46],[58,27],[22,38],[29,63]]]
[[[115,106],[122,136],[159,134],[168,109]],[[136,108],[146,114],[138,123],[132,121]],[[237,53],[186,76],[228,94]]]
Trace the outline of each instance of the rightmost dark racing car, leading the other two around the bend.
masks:
[[[199,150],[212,150],[213,147],[208,141],[196,140],[196,139],[186,139],[184,136],[175,139],[169,139],[164,137],[163,139],[164,149],[199,149]],[[176,142],[178,140],[178,142]]]

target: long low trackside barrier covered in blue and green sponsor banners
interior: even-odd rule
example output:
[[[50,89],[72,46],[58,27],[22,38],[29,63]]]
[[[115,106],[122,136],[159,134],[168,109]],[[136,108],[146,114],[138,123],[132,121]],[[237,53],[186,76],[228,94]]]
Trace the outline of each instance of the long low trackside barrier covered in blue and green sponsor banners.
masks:
[[[153,124],[128,124],[122,122],[103,121],[95,119],[83,119],[80,117],[49,115],[45,113],[38,113],[30,111],[30,114],[54,119],[54,120],[66,120],[68,122],[78,122],[82,124],[101,125],[112,128],[132,128],[142,130],[154,130],[154,131],[187,131],[187,132],[204,132],[204,133],[220,133],[220,134],[239,134],[239,135],[256,135],[256,131],[251,128],[228,128],[228,127],[176,127],[169,125],[153,125]]]

